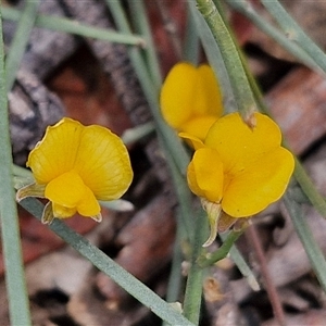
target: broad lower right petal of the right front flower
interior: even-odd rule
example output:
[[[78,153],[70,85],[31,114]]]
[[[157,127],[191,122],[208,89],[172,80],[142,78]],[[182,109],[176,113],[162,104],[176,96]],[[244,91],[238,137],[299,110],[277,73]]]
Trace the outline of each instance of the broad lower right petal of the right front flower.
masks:
[[[261,212],[284,195],[293,168],[293,156],[285,148],[266,153],[230,180],[224,191],[223,210],[233,217]]]

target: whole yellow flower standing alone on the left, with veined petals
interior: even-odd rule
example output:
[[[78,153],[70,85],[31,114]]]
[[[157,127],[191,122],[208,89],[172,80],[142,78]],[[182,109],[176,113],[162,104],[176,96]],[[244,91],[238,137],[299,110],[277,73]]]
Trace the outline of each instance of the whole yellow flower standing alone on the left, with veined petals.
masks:
[[[26,165],[36,183],[20,189],[17,200],[49,199],[43,223],[71,217],[76,212],[100,222],[98,200],[120,198],[133,179],[127,149],[116,135],[68,117],[47,128]]]

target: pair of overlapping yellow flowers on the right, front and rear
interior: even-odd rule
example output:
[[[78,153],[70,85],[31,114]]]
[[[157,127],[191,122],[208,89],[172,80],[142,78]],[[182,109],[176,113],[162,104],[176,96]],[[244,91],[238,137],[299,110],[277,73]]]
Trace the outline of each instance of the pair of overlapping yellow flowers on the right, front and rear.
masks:
[[[161,106],[165,121],[192,143],[188,185],[215,224],[221,215],[230,224],[250,217],[283,196],[294,160],[280,146],[279,127],[261,113],[251,116],[253,126],[239,113],[221,117],[221,93],[209,66],[174,66],[162,87]]]

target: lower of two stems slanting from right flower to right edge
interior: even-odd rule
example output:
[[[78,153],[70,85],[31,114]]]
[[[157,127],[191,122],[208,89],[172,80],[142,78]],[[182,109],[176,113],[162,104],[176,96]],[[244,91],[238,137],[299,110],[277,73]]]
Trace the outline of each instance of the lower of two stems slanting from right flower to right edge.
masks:
[[[297,234],[303,244],[310,263],[321,283],[323,290],[326,292],[326,261],[325,256],[316,243],[313,234],[305,221],[302,208],[292,197],[292,189],[289,188],[284,196],[286,209],[292,220]]]

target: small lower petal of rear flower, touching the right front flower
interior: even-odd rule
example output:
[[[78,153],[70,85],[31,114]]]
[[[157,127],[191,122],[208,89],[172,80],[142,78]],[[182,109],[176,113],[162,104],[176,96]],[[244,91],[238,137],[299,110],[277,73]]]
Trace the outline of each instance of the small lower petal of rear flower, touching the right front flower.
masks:
[[[196,116],[186,122],[183,125],[181,130],[187,134],[191,134],[201,140],[204,140],[209,129],[216,120],[217,117],[214,115]]]

